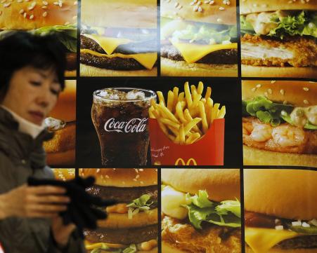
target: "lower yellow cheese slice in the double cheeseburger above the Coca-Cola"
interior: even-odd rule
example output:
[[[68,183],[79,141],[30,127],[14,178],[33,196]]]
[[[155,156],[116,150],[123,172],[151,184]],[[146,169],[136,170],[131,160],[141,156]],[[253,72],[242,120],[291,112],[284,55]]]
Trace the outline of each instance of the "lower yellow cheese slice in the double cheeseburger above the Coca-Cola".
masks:
[[[89,53],[91,55],[95,55],[98,57],[108,57],[108,58],[113,58],[113,57],[132,58],[140,62],[140,64],[142,64],[146,69],[152,69],[157,60],[157,53],[137,53],[134,55],[124,55],[122,53],[114,53],[112,55],[106,55],[103,53],[97,53],[90,49],[81,49],[80,53]]]

